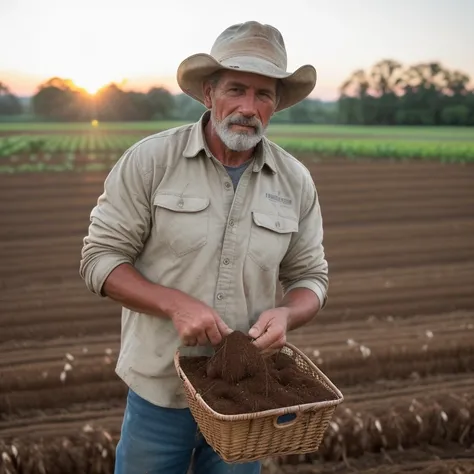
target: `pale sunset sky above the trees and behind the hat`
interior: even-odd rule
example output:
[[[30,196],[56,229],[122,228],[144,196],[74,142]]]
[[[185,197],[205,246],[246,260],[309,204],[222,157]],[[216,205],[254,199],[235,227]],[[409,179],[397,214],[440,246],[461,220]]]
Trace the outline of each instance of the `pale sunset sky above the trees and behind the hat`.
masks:
[[[0,81],[21,95],[52,76],[175,93],[179,63],[246,20],[282,32],[289,70],[316,67],[313,97],[336,98],[384,58],[441,61],[474,80],[474,0],[0,0]]]

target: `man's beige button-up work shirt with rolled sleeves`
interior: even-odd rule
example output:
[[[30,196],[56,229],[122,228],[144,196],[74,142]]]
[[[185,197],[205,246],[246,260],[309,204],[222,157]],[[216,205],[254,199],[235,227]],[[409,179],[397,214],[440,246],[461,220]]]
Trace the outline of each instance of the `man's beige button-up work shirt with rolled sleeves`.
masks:
[[[324,307],[328,265],[310,173],[264,138],[234,192],[206,145],[207,120],[209,112],[141,140],[111,170],[84,238],[87,288],[102,296],[107,276],[127,262],[241,330],[274,307],[278,278],[285,293],[309,288]],[[116,372],[150,402],[186,407],[173,363],[179,345],[171,320],[123,308]]]

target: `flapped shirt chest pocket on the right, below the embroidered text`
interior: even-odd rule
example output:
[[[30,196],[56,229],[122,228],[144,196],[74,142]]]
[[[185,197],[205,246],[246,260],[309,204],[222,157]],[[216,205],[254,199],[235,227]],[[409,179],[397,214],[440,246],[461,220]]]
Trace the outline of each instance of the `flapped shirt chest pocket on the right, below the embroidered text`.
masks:
[[[252,211],[248,255],[263,270],[280,265],[298,222],[288,217]]]

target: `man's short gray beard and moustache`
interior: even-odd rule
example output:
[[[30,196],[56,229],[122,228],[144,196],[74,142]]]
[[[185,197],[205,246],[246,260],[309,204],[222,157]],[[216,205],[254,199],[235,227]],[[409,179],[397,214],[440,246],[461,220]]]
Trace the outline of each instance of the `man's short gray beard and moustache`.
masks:
[[[224,120],[218,120],[211,110],[211,123],[218,137],[224,145],[233,151],[247,151],[254,148],[263,138],[266,127],[263,127],[260,120],[253,117],[246,119],[238,115],[229,115]],[[251,132],[234,132],[230,129],[232,124],[249,125],[254,127],[254,133]]]

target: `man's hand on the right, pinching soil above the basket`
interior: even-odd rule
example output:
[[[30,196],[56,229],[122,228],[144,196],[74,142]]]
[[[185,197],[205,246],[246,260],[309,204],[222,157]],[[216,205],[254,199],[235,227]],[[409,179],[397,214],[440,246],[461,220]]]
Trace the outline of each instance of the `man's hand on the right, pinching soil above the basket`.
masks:
[[[250,328],[253,344],[264,354],[280,350],[286,343],[289,317],[290,309],[285,307],[264,311]]]

